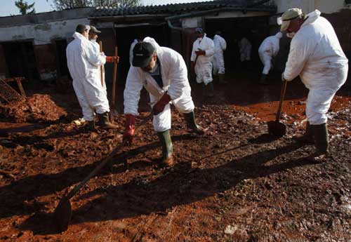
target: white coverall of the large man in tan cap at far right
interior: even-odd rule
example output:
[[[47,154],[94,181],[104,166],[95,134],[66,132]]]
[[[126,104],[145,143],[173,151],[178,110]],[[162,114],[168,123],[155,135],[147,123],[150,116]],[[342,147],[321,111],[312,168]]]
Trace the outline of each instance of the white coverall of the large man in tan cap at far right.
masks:
[[[306,88],[306,116],[312,125],[326,123],[326,112],[336,91],[347,78],[347,58],[331,23],[315,10],[307,15],[291,41],[284,79],[300,74]]]

